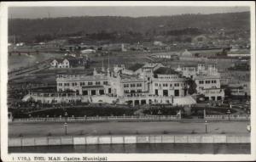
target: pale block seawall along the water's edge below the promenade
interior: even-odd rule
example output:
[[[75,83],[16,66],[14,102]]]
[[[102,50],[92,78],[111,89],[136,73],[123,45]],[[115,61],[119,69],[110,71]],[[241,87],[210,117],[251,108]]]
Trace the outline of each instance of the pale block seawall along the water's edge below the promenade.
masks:
[[[80,137],[13,137],[9,147],[128,144],[128,143],[250,143],[249,135],[184,134],[184,135],[116,135]]]

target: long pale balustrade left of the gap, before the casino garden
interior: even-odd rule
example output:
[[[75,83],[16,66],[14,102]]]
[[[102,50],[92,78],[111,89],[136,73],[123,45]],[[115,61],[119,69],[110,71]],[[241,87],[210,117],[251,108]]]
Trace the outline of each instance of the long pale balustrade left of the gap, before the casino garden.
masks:
[[[90,117],[55,117],[13,119],[11,122],[79,122],[79,121],[152,121],[181,120],[179,115],[146,115],[146,116],[90,116]]]

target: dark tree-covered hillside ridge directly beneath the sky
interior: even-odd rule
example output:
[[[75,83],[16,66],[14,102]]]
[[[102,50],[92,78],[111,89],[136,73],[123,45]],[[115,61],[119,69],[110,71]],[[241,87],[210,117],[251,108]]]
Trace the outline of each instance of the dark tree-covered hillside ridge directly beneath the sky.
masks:
[[[136,37],[152,39],[158,35],[196,35],[214,29],[249,30],[250,13],[181,14],[155,17],[83,16],[9,20],[9,36],[23,42],[49,41],[56,37],[87,36],[90,39]],[[130,37],[130,38],[129,38]]]

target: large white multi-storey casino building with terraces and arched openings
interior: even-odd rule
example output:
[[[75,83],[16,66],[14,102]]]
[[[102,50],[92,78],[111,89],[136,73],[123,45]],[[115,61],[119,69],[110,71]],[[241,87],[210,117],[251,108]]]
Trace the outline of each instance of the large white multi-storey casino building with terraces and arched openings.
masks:
[[[210,100],[224,98],[215,66],[211,65],[206,70],[204,64],[199,64],[195,74],[186,70],[186,67],[172,70],[162,64],[152,63],[134,64],[126,69],[124,64],[117,64],[113,71],[95,69],[93,75],[57,75],[56,92],[30,92],[23,101],[33,98],[43,103],[81,101],[191,105],[196,103],[194,96],[188,94],[188,81],[191,77],[197,85],[196,94],[205,94]],[[211,73],[208,73],[209,70]]]

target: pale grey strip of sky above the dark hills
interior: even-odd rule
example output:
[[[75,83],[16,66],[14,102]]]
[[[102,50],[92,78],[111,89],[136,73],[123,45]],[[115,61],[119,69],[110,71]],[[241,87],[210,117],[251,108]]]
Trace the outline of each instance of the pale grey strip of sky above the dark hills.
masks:
[[[10,7],[9,18],[38,19],[72,16],[160,16],[249,11],[248,7]]]

